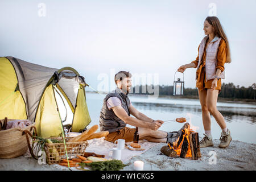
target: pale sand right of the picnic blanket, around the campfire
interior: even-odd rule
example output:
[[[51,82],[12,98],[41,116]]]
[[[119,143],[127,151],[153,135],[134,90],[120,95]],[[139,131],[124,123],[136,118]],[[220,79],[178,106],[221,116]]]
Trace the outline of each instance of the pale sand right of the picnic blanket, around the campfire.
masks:
[[[218,148],[219,140],[213,140],[213,147],[201,148],[199,160],[169,158],[162,155],[160,148],[166,144],[160,143],[142,155],[133,157],[127,162],[129,166],[124,170],[133,170],[135,160],[144,162],[144,170],[166,171],[211,171],[211,170],[255,170],[256,144],[232,141],[228,148]],[[216,160],[214,160],[216,154]]]

